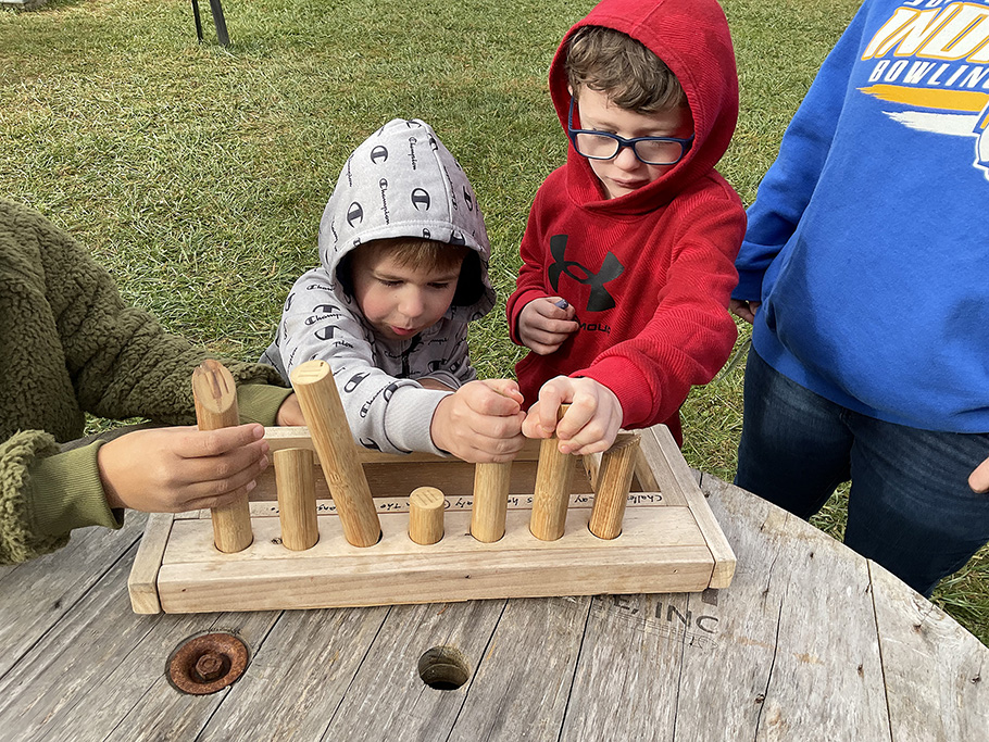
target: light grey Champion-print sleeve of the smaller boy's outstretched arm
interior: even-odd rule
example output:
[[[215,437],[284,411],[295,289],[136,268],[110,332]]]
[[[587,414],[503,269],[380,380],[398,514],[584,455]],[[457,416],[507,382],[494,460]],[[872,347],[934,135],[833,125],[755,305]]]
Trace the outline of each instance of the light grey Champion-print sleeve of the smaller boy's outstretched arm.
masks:
[[[436,407],[450,392],[424,389],[378,367],[364,326],[336,298],[322,268],[299,278],[290,297],[277,341],[286,376],[306,361],[325,361],[354,441],[385,453],[446,453],[434,444],[430,427]]]

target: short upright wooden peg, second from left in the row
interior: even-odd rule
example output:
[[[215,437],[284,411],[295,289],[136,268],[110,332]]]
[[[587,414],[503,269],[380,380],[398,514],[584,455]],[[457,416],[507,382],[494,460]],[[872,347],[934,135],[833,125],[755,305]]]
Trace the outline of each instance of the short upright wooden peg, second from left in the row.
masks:
[[[312,549],[320,540],[313,452],[309,449],[280,449],[275,451],[274,461],[281,543],[292,551]]]

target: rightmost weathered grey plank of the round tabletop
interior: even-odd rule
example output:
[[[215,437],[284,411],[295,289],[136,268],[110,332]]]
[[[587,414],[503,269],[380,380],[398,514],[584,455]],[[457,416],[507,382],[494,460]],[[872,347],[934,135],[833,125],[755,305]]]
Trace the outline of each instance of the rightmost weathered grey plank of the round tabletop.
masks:
[[[894,742],[989,737],[989,647],[878,564],[869,571]]]

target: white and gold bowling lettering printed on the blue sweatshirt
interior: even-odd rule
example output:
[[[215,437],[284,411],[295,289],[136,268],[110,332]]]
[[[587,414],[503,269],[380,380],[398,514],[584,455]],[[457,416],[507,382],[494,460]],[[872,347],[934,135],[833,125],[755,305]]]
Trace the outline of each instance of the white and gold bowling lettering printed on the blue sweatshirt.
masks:
[[[973,166],[989,179],[989,5],[905,0],[869,39],[867,96],[911,129],[974,137]]]

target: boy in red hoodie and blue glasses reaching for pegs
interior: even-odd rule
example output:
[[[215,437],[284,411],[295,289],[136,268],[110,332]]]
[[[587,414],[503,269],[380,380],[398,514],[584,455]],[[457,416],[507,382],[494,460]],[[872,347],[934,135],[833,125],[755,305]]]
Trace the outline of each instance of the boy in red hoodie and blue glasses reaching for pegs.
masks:
[[[715,0],[603,0],[563,38],[550,93],[566,164],[536,194],[508,303],[523,431],[564,453],[666,424],[736,339],[728,314],[746,229],[714,169],[738,118]],[[571,403],[556,424],[562,403]]]

